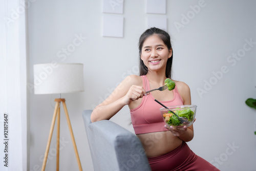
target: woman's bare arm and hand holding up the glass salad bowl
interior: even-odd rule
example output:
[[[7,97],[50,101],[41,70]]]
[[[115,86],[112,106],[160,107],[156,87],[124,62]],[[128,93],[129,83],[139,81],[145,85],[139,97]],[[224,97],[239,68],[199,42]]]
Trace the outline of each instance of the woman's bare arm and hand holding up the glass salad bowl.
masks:
[[[184,105],[191,105],[190,89],[187,86],[187,84],[184,82],[177,81],[176,85],[181,97],[183,98]],[[184,131],[174,129],[173,126],[170,126],[169,130],[175,136],[178,136],[182,141],[185,141],[185,142],[191,141],[194,137],[193,124],[190,125],[189,127],[184,126]]]

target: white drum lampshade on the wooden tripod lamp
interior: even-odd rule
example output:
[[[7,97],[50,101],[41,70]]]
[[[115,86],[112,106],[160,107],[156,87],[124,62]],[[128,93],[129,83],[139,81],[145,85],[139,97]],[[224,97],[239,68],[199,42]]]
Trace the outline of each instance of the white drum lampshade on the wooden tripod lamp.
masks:
[[[34,65],[35,94],[82,92],[82,63],[43,63]]]

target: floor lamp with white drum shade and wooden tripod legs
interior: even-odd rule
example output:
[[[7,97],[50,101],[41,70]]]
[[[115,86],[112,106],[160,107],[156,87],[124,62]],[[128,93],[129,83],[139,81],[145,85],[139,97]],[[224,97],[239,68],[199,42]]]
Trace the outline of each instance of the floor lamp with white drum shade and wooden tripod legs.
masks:
[[[76,155],[79,170],[82,170],[76,142],[72,131],[71,122],[66,106],[66,100],[61,98],[62,93],[82,92],[83,89],[83,65],[81,63],[43,63],[34,65],[34,90],[35,94],[59,94],[54,101],[50,134],[46,146],[44,162],[41,170],[45,170],[51,144],[54,124],[57,118],[57,144],[56,144],[56,170],[59,170],[59,132],[60,132],[60,103],[62,102],[65,115],[68,121],[69,131]]]

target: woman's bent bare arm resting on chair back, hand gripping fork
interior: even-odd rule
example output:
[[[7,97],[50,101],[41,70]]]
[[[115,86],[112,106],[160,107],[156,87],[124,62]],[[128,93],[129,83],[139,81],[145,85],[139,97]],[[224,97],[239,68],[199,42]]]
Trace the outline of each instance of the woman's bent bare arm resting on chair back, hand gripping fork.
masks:
[[[123,106],[132,101],[142,98],[145,90],[140,85],[141,78],[136,75],[127,76],[112,92],[112,94],[100,103],[93,110],[91,115],[92,122],[104,119],[110,119]]]

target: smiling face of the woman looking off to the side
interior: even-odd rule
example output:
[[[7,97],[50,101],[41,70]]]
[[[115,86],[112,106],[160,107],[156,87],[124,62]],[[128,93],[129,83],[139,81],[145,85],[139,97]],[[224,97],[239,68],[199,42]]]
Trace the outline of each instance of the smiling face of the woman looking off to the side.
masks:
[[[143,43],[140,58],[148,71],[159,71],[166,68],[167,59],[172,56],[172,49],[168,50],[163,40],[153,34],[147,37]]]

